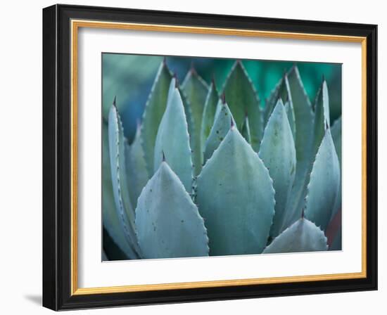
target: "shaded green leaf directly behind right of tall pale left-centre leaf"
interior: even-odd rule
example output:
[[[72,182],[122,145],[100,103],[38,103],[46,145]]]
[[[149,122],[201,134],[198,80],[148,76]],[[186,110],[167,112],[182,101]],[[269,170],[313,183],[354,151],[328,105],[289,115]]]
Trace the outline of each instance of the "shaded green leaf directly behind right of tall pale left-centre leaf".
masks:
[[[201,171],[203,163],[201,148],[201,124],[203,118],[203,110],[205,106],[205,98],[208,94],[208,85],[196,73],[194,68],[186,75],[182,84],[182,89],[191,105],[192,121],[194,123],[194,132],[191,136],[192,162],[194,163],[194,174],[197,175]]]

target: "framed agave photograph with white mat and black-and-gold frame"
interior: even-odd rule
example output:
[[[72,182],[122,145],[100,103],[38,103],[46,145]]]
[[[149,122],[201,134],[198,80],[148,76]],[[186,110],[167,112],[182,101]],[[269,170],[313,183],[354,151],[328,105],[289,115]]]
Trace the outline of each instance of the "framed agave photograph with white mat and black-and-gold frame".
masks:
[[[376,32],[44,8],[44,307],[376,290]]]

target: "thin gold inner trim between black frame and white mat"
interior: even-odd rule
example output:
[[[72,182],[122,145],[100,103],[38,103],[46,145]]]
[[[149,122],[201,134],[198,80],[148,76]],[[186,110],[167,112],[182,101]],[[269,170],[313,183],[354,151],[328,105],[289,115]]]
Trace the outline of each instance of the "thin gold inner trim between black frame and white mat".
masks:
[[[295,32],[272,32],[261,30],[238,30],[216,27],[187,27],[177,25],[153,25],[140,23],[115,23],[96,20],[71,20],[71,295],[101,293],[129,293],[151,290],[177,290],[188,288],[216,288],[236,285],[257,285],[269,283],[291,283],[303,281],[328,281],[367,277],[367,38],[331,34],[309,34]],[[161,283],[147,285],[120,285],[98,288],[78,288],[77,259],[77,44],[80,27],[139,30],[149,32],[178,32],[191,34],[218,34],[243,37],[269,37],[277,39],[303,39],[319,41],[342,41],[362,44],[362,271],[347,274],[323,274],[308,276],[284,276],[275,278],[248,278],[221,281],[197,281],[184,283]]]

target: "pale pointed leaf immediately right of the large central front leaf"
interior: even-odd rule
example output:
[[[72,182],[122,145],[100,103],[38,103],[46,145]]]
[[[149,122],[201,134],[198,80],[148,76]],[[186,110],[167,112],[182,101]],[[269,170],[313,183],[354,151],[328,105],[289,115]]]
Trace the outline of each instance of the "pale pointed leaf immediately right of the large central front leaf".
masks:
[[[270,236],[274,238],[284,224],[288,195],[296,174],[296,148],[281,98],[265,127],[259,155],[273,179],[276,205]]]

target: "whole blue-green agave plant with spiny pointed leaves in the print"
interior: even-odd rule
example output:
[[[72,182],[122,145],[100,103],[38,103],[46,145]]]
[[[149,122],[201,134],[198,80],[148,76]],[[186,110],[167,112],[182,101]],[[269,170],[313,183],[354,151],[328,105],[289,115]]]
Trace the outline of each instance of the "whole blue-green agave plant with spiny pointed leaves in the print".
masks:
[[[160,65],[128,143],[103,122],[103,226],[127,259],[338,249],[341,118],[325,79],[310,103],[298,68],[261,105],[241,61],[221,93]],[[341,233],[337,233],[339,238]]]

